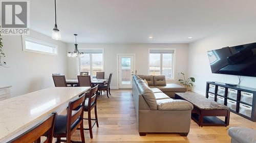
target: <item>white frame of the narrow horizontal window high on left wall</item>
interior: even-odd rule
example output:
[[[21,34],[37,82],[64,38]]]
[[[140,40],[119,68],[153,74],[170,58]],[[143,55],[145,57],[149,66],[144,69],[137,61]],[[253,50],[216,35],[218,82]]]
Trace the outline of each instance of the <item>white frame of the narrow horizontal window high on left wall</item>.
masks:
[[[33,43],[36,43],[36,44],[53,47],[54,50],[56,50],[56,53],[26,49],[25,41],[29,41],[29,42],[33,42]],[[51,43],[48,43],[48,42],[45,42],[45,41],[41,41],[41,40],[38,40],[38,39],[35,39],[35,38],[32,38],[32,37],[22,36],[22,45],[23,45],[23,51],[26,51],[26,52],[34,52],[34,53],[49,54],[49,55],[58,55],[58,45],[54,45],[54,44],[51,44]]]

